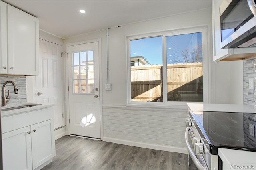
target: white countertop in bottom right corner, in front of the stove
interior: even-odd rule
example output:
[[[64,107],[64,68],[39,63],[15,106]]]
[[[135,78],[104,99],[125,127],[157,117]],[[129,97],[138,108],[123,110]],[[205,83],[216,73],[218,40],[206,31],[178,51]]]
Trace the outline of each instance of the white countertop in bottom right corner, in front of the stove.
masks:
[[[256,152],[219,148],[224,170],[256,170]]]

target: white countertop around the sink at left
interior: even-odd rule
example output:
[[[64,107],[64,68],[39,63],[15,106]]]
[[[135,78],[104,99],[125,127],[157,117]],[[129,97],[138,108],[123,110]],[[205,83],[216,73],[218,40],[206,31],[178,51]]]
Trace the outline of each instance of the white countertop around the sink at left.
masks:
[[[2,109],[8,109],[10,107],[19,107],[19,106],[24,106],[24,105],[32,105],[32,107],[24,107],[24,108],[20,108],[20,109],[2,111]],[[1,107],[1,115],[2,115],[2,117],[7,117],[7,116],[17,115],[17,114],[21,114],[21,113],[30,112],[30,111],[40,110],[40,109],[43,109],[46,107],[52,107],[52,106],[54,106],[54,104],[48,104],[48,103],[20,103],[20,104],[15,104],[15,105],[7,105],[7,106]]]

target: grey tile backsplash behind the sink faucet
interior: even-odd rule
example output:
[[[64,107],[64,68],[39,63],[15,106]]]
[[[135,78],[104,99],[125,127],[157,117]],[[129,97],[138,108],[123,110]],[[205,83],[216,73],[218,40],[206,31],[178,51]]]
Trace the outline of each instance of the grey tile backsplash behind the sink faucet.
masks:
[[[2,89],[3,89],[3,84],[6,81],[13,81],[17,88],[19,93],[14,94],[14,87],[11,83],[8,83],[5,87],[5,97],[8,95],[8,90],[10,90],[10,101],[8,104],[17,104],[17,103],[22,103],[26,102],[26,76],[15,76],[15,75],[1,75],[0,76],[1,80],[1,96],[2,96]],[[2,98],[1,98],[2,102]]]

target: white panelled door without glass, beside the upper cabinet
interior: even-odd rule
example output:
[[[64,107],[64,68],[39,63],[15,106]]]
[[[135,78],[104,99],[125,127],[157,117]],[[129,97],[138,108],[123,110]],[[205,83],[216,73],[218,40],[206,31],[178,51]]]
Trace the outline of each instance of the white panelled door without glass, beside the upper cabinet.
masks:
[[[62,46],[40,39],[39,75],[36,76],[36,102],[54,103],[54,128],[63,126]]]

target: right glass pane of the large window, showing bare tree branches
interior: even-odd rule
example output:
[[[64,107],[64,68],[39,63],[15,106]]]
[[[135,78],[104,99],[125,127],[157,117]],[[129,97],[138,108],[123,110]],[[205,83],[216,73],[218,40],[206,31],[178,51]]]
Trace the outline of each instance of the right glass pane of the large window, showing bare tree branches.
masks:
[[[203,101],[202,33],[166,37],[167,101]]]

